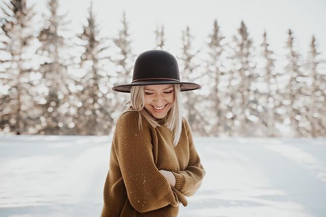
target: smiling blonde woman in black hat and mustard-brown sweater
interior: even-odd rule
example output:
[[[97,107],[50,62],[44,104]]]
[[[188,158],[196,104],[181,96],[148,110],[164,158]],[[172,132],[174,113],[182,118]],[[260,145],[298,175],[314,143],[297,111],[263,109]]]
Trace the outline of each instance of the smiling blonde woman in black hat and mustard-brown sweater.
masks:
[[[101,216],[177,216],[179,204],[187,205],[205,170],[181,116],[180,91],[199,88],[180,82],[177,60],[162,50],[143,52],[132,82],[112,88],[130,101],[114,131]]]

